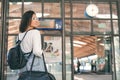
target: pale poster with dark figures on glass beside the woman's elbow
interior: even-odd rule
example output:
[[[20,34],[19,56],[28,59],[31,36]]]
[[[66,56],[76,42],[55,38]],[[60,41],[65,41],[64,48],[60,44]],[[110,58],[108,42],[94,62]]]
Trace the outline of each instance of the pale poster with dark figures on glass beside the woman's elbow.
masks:
[[[43,50],[47,63],[62,61],[61,38],[56,37],[52,40],[45,40]]]

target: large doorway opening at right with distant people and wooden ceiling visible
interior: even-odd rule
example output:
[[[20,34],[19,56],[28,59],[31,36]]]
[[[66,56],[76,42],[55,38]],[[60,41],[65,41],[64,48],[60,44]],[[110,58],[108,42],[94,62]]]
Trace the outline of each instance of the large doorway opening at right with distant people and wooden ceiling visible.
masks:
[[[74,79],[88,80],[87,77],[90,75],[94,79],[96,79],[94,76],[99,79],[103,75],[103,80],[112,80],[111,37],[74,36],[73,38]]]

